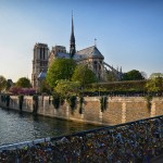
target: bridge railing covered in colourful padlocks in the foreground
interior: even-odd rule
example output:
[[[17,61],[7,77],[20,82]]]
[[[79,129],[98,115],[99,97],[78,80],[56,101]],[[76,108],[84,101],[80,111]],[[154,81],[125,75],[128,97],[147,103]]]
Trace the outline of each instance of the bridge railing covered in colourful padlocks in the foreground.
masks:
[[[1,163],[150,163],[163,153],[163,116],[0,150]]]

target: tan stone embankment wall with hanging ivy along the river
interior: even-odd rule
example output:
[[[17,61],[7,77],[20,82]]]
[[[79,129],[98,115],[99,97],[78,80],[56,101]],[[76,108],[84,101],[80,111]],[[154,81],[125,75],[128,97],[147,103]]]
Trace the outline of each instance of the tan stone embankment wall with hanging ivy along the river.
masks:
[[[10,97],[10,109],[20,110],[18,98]],[[83,114],[79,113],[79,102],[72,110],[65,101],[59,109],[54,109],[52,97],[39,97],[37,113],[45,116],[59,117],[83,123],[114,125],[136,120],[163,115],[163,98],[153,98],[150,108],[145,97],[109,97],[106,109],[101,112],[100,97],[85,97]],[[7,103],[0,97],[0,105],[7,108]],[[33,97],[24,97],[23,111],[33,113]]]

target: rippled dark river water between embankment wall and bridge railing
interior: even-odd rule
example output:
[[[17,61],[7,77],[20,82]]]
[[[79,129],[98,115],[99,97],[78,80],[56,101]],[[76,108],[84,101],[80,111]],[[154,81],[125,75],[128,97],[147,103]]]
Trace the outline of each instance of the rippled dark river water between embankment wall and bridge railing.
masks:
[[[98,128],[95,125],[70,122],[0,108],[0,146],[8,143],[57,137]]]

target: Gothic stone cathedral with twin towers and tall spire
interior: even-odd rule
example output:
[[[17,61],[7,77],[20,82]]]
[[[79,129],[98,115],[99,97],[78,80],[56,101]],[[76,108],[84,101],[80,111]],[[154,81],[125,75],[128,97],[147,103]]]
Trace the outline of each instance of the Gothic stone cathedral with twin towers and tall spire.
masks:
[[[46,43],[35,45],[32,74],[32,84],[35,89],[38,89],[40,82],[46,79],[48,67],[51,65],[52,61],[58,58],[74,59],[77,64],[88,65],[100,82],[106,82],[106,74],[109,73],[114,74],[117,80],[121,80],[122,78],[122,68],[118,71],[118,68],[115,70],[113,66],[105,63],[104,57],[98,50],[96,45],[76,51],[73,16],[68,53],[64,46],[52,47],[52,50],[50,51]]]

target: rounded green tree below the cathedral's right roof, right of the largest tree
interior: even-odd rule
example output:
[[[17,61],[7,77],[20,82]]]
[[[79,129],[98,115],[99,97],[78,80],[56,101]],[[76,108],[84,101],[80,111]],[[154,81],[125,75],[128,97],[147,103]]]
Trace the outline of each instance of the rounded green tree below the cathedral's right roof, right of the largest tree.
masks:
[[[96,74],[87,65],[78,65],[72,77],[73,82],[79,82],[82,86],[97,82]]]

